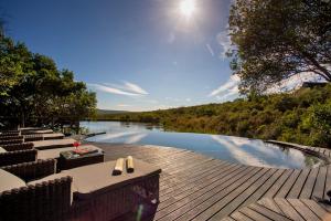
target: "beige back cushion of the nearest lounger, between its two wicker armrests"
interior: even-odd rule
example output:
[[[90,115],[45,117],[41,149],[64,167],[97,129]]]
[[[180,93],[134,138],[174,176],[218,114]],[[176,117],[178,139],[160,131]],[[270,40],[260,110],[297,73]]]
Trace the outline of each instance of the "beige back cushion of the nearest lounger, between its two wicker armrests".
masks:
[[[14,188],[26,187],[26,183],[21,178],[0,169],[0,192]]]

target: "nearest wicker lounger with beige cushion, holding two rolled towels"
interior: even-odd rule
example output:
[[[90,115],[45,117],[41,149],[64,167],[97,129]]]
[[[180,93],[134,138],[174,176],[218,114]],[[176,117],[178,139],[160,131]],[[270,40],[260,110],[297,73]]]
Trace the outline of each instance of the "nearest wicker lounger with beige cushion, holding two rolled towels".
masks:
[[[10,190],[10,183],[0,187],[0,220],[108,221],[137,210],[138,204],[157,204],[161,170],[140,160],[135,164],[134,173],[116,177],[111,176],[115,161],[61,173],[54,173],[55,160],[3,167],[0,176],[15,175],[28,186],[11,177],[15,189]]]

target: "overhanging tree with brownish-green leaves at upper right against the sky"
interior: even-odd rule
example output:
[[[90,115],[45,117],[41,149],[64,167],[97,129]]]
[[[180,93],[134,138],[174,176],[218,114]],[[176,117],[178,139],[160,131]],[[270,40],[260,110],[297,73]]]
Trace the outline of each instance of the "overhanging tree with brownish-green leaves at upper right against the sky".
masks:
[[[229,13],[232,69],[241,91],[263,92],[310,72],[331,81],[331,1],[236,0]]]

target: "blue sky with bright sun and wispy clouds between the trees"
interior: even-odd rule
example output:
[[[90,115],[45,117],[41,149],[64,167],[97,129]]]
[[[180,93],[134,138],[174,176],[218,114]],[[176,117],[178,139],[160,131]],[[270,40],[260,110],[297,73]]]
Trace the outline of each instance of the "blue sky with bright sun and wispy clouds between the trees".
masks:
[[[183,1],[194,1],[190,15]],[[231,0],[2,0],[7,33],[97,92],[98,107],[149,110],[237,96],[224,51]]]

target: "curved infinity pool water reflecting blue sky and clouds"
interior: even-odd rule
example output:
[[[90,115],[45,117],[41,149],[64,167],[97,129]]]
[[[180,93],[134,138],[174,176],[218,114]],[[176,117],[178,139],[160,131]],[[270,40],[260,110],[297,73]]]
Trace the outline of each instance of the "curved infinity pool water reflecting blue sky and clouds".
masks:
[[[177,147],[214,158],[249,166],[306,168],[323,164],[318,157],[292,148],[243,137],[164,131],[160,126],[142,123],[81,122],[88,133],[106,131],[88,141]]]

